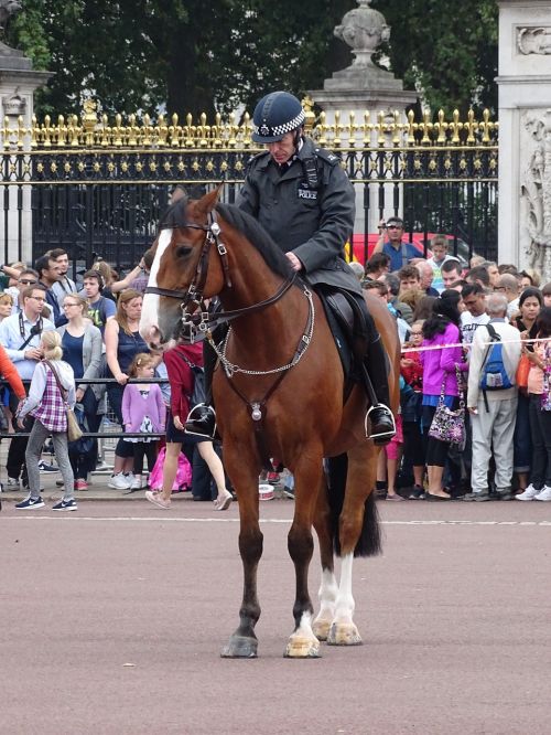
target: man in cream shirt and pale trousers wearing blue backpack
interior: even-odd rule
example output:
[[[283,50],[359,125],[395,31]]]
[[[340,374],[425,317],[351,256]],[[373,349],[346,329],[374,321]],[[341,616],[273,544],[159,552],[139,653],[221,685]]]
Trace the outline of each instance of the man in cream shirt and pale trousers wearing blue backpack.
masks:
[[[465,500],[489,500],[488,466],[491,451],[496,464],[497,497],[499,500],[511,500],[512,436],[518,402],[515,374],[520,360],[520,332],[507,323],[507,299],[501,294],[488,296],[487,311],[490,320],[488,326],[476,330],[468,371],[467,408],[473,427],[473,492],[465,496]],[[480,381],[484,365],[488,358],[496,360],[496,353],[490,353],[493,348],[488,345],[491,341],[488,327],[493,327],[500,338],[496,345],[501,350],[506,375],[494,382],[493,390],[483,390]],[[499,387],[500,385],[504,386]]]

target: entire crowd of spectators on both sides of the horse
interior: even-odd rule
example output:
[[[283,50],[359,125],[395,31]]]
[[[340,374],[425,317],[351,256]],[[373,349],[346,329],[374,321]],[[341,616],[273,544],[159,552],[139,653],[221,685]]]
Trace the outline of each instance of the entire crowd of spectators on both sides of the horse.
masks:
[[[551,500],[551,284],[542,285],[532,269],[519,271],[514,265],[498,266],[478,256],[462,263],[449,253],[450,241],[444,236],[432,239],[429,258],[420,257],[402,239],[403,224],[398,217],[389,220],[381,224],[381,237],[365,268],[354,264],[364,289],[385,301],[396,318],[402,345],[398,432],[380,456],[379,497]],[[182,432],[182,406],[188,406],[188,396],[171,396],[168,385],[161,386],[162,394],[148,387],[148,377],[166,377],[169,368],[177,373],[173,381],[177,390],[187,385],[190,392],[190,364],[201,362],[197,350],[191,350],[187,358],[183,355],[187,365],[171,353],[164,364],[139,333],[151,253],[125,278],[98,260],[75,284],[67,275],[68,265],[67,253],[56,248],[32,268],[14,263],[0,273],[0,356],[14,368],[9,373],[4,369],[11,387],[2,388],[2,413],[13,433],[8,489],[29,489],[28,438],[21,433],[29,433],[34,422],[33,412],[17,420],[22,401],[17,379],[29,390],[44,356],[43,334],[56,330],[89,432],[99,430],[106,391],[110,411],[127,433],[162,434],[168,427],[172,445],[166,450],[168,480],[161,493],[149,493],[149,499],[160,508],[170,507],[172,476],[182,449],[197,477],[204,476],[201,462],[206,461],[216,480],[212,489],[194,496],[226,508],[227,478],[215,448],[186,439]],[[503,390],[483,390],[494,333],[503,344],[507,383]],[[129,376],[145,382],[130,385]],[[111,379],[107,385],[83,382],[104,377]],[[441,401],[452,409],[466,407],[463,446],[429,435]],[[147,488],[143,458],[151,471],[158,447],[156,440],[149,443],[145,436],[130,439],[121,436],[118,441],[108,479],[109,487],[125,492]],[[76,490],[87,489],[99,461],[97,440],[91,445],[91,451],[89,444],[83,451],[69,445]],[[292,488],[287,490],[293,497]]]

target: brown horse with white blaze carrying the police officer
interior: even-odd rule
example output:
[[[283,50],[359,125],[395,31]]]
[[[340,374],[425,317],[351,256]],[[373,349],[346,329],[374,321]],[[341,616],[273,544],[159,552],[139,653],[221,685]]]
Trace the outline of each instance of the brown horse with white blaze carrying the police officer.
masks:
[[[222,654],[257,654],[257,567],[262,554],[258,477],[267,456],[280,459],[295,480],[288,536],[296,577],[295,627],[285,656],[317,657],[320,640],[360,643],[353,620],[353,557],[380,550],[372,497],[378,448],[366,439],[365,394],[357,385],[352,392],[345,390],[341,359],[317,296],[294,280],[285,256],[255,220],[235,206],[217,204],[217,192],[176,202],[161,224],[142,309],[143,338],[154,347],[170,344],[181,337],[183,321],[190,323],[186,311],[194,312],[191,321],[205,330],[216,315],[197,305],[215,295],[230,320],[228,337],[217,348],[213,391],[224,461],[239,502],[245,577],[239,626]],[[380,301],[368,298],[368,305],[390,359],[396,411],[397,329]],[[325,470],[324,458],[331,458]],[[315,618],[307,588],[312,526],[322,561],[321,609]],[[334,552],[342,558],[339,584]]]

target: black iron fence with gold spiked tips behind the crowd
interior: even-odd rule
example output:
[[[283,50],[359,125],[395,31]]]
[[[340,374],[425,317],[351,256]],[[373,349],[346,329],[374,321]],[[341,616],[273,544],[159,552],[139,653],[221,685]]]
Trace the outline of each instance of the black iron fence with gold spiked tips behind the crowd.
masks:
[[[310,119],[310,118],[309,118]],[[225,181],[233,202],[247,161],[257,152],[250,121],[207,126],[170,124],[148,116],[109,126],[89,104],[82,119],[33,121],[0,130],[0,236],[4,260],[35,259],[64,247],[75,270],[100,255],[118,268],[136,265],[156,234],[176,183],[210,188]],[[415,242],[426,246],[446,234],[452,249],[497,255],[497,125],[487,115],[465,122],[443,115],[433,124],[412,115],[400,121],[380,115],[327,124],[322,114],[309,132],[337,152],[358,192],[360,216],[355,254],[365,259],[376,237],[374,223],[400,214]]]

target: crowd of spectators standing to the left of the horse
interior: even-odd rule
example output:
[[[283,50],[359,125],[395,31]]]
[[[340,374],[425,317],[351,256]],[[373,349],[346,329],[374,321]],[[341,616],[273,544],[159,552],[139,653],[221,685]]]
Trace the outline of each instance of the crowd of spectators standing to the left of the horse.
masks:
[[[51,383],[53,370],[61,371],[65,382],[67,375],[71,376],[72,403],[76,403],[82,413],[85,432],[98,433],[106,411],[120,424],[121,437],[116,446],[115,467],[107,480],[108,486],[123,492],[148,487],[144,457],[151,472],[158,457],[159,437],[164,434],[171,406],[163,355],[150,353],[139,333],[142,296],[151,265],[152,253],[148,251],[136,268],[119,278],[111,266],[99,259],[89,270],[80,274],[79,283],[75,283],[67,275],[68,254],[55,248],[37,258],[32,268],[24,263],[14,263],[0,269],[0,358],[2,374],[8,383],[1,387],[0,417],[4,419],[3,430],[11,434],[3,484],[10,491],[29,492],[29,498],[18,508],[43,507],[36,472],[60,469],[64,478],[58,481],[60,487],[67,483],[71,487],[65,487],[63,500],[55,509],[75,510],[74,490],[87,490],[90,473],[101,462],[95,438],[69,443],[67,460],[67,449],[63,449],[55,428],[51,447],[55,451],[57,466],[46,461],[37,464],[48,435],[41,413],[44,401],[36,405],[36,400],[30,402],[25,395],[33,379],[39,375],[39,366],[42,380],[40,385],[35,381],[39,387],[33,388],[34,393],[40,388],[46,393],[50,391],[48,396],[57,396],[56,387]],[[57,368],[53,369],[52,360],[44,362],[44,335],[48,332],[57,332],[56,340],[60,342],[55,352]],[[187,383],[191,383],[191,366],[183,364],[181,372],[190,374]],[[129,383],[130,377],[134,382]],[[97,382],[90,384],[87,382],[90,380]],[[140,380],[143,383],[136,382]],[[152,380],[164,382],[156,385]],[[179,400],[175,404],[180,405]],[[57,405],[54,413],[56,411]],[[181,418],[185,420],[185,416]],[[63,424],[51,422],[50,417],[45,423],[55,427]],[[37,428],[34,428],[35,424]],[[66,432],[66,424],[63,425]],[[30,433],[31,443],[26,436]],[[148,437],[148,434],[154,436]],[[161,438],[161,444],[163,440]],[[210,451],[212,445],[201,446],[201,451],[195,449],[196,443],[191,438],[188,445],[183,441],[175,457],[169,454],[177,461],[182,448],[186,461],[193,466],[195,472],[191,489],[194,499],[215,500],[217,505],[227,508],[229,492],[219,457],[214,449]],[[204,457],[208,466],[216,470],[216,482],[212,481],[203,466]],[[29,462],[32,465],[32,477],[28,473]],[[219,502],[220,497],[223,503]]]

